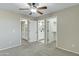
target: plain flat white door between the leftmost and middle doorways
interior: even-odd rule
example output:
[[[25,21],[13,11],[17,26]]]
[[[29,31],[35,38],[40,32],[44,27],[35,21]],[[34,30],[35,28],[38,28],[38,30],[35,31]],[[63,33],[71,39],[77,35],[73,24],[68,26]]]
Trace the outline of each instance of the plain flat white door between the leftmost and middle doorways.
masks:
[[[29,20],[29,42],[37,41],[37,21]]]

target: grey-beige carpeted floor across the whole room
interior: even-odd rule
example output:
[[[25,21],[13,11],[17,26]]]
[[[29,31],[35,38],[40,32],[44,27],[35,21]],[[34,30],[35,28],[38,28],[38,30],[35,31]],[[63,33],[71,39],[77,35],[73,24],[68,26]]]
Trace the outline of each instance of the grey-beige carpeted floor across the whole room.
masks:
[[[28,43],[23,40],[22,45],[0,51],[1,56],[78,56],[77,54],[57,49],[55,42],[43,45],[38,42]]]

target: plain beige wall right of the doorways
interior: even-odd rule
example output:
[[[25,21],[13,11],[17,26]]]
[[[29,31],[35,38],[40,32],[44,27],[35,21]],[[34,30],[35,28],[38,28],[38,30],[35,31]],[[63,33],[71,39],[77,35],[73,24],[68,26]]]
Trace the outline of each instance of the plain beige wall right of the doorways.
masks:
[[[53,14],[57,16],[57,47],[79,54],[79,5]]]

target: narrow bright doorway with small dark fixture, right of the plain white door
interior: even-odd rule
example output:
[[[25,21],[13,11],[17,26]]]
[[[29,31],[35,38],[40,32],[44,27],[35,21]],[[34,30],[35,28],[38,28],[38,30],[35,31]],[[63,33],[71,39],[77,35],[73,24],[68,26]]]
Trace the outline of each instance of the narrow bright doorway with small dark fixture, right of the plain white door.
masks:
[[[45,21],[38,20],[38,41],[44,43],[45,40]]]

